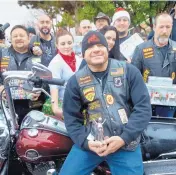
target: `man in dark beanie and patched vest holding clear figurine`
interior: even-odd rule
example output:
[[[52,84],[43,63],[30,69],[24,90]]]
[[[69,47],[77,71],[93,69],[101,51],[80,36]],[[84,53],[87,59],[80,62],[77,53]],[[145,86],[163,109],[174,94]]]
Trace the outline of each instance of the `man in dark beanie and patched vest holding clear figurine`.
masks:
[[[59,175],[91,174],[102,161],[112,175],[143,175],[139,141],[151,106],[139,70],[108,59],[107,41],[97,31],[85,35],[82,54],[87,65],[68,81],[63,103],[65,125],[75,145]]]

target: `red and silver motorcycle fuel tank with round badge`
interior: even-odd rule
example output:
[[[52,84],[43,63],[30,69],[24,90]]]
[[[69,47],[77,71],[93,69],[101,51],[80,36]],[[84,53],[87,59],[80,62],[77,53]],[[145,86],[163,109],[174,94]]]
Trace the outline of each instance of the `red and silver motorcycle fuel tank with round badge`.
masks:
[[[38,163],[66,156],[72,145],[63,121],[31,111],[21,124],[16,151],[23,161]]]

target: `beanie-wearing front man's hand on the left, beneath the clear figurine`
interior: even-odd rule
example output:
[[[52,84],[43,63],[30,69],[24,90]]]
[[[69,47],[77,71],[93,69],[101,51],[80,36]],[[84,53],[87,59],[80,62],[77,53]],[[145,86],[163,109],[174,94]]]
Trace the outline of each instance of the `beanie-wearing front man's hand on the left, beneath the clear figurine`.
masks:
[[[88,141],[88,147],[91,151],[97,153],[99,156],[107,149],[107,144],[100,141]]]

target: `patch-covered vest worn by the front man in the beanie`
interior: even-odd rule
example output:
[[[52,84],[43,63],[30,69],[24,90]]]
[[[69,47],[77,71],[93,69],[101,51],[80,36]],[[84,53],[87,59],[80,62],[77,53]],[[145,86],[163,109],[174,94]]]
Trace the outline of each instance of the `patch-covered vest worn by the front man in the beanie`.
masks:
[[[88,66],[84,66],[76,75],[80,86],[81,100],[85,106],[87,121],[98,121],[101,118],[104,136],[120,136],[128,123],[132,104],[130,103],[129,86],[126,79],[126,63],[109,60],[107,80],[102,90],[102,83],[96,79]],[[123,149],[134,150],[140,137],[125,145]]]

